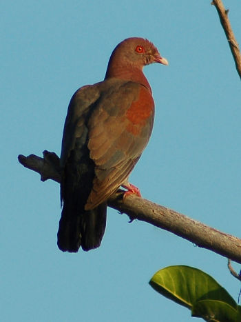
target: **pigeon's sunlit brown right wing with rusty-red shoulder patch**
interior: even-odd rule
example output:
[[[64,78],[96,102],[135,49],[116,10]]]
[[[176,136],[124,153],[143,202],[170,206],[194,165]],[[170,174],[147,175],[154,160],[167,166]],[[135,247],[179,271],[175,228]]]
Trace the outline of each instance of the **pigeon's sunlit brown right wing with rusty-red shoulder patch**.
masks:
[[[117,85],[103,88],[87,123],[95,175],[86,210],[107,200],[129,177],[153,126],[154,101],[149,90],[131,81]]]

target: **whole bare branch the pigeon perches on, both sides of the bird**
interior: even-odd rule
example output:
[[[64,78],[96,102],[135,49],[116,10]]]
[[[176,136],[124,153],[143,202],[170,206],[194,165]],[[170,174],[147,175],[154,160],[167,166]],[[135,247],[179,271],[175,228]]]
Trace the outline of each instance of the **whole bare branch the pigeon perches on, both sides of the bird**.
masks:
[[[44,151],[43,158],[31,154],[28,157],[19,155],[19,162],[41,174],[41,181],[52,179],[61,181],[59,157]],[[131,220],[138,219],[163,228],[169,232],[195,243],[201,248],[207,248],[233,261],[241,263],[241,239],[211,228],[199,221],[190,219],[184,214],[157,205],[146,199],[130,195],[123,199],[123,191],[118,190],[109,200],[109,207],[125,213]]]

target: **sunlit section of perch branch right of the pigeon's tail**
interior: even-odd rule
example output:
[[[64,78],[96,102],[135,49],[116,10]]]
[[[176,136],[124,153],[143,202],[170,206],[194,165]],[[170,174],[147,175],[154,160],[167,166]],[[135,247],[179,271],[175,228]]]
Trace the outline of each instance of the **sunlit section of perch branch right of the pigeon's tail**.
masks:
[[[241,239],[237,237],[220,232],[175,210],[135,196],[124,200],[111,199],[108,204],[116,210],[125,212],[131,219],[151,223],[158,228],[163,228],[185,238],[201,248],[207,248],[241,263]]]

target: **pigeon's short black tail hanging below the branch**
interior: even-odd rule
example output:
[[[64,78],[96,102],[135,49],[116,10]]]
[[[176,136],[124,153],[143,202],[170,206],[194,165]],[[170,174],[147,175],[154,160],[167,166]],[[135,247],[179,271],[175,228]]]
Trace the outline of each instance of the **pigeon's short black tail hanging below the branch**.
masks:
[[[80,247],[87,251],[100,246],[105,233],[106,210],[106,203],[102,203],[93,210],[83,210],[76,214],[67,209],[64,203],[59,221],[59,249],[63,252],[78,252]]]

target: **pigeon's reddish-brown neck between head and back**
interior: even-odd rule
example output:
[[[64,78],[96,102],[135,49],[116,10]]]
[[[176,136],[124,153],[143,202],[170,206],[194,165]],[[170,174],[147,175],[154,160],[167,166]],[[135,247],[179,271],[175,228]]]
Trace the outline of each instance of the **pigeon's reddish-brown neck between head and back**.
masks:
[[[114,66],[112,66],[112,63],[109,63],[105,74],[105,79],[110,79],[112,77],[140,83],[144,85],[149,90],[149,92],[151,92],[151,86],[149,85],[141,68],[118,65],[116,63],[114,64]]]

